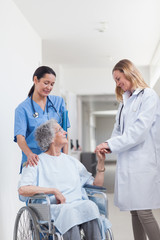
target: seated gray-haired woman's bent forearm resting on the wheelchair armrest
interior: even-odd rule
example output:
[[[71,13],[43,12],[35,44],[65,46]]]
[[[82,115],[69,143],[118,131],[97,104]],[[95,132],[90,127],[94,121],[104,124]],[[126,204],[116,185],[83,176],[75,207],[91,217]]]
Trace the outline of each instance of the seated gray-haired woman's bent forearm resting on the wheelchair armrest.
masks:
[[[31,197],[38,193],[53,194],[53,195],[55,195],[57,203],[65,203],[65,201],[66,201],[66,199],[62,195],[62,193],[56,188],[46,188],[46,187],[28,185],[28,186],[21,186],[18,189],[18,192],[20,195],[22,195],[24,197]]]

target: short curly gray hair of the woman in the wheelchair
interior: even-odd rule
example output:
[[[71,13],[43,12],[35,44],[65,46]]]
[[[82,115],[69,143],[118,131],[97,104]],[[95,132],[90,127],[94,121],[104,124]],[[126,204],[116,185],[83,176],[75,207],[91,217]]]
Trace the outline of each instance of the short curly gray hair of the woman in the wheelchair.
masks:
[[[42,151],[46,152],[49,149],[55,136],[56,125],[57,121],[55,119],[50,119],[36,129],[35,139]]]

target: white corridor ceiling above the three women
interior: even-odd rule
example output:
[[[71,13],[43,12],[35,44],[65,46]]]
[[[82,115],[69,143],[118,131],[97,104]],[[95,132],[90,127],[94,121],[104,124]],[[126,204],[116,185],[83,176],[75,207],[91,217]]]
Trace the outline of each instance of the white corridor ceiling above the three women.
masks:
[[[150,64],[160,40],[159,0],[13,0],[43,40],[43,63]]]

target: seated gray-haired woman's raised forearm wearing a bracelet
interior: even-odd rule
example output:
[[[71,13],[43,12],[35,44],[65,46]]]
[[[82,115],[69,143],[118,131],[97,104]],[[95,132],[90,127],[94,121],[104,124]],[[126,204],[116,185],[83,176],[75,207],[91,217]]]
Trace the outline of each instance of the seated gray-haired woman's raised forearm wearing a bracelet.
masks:
[[[103,186],[104,173],[105,173],[105,153],[97,151],[96,154],[97,154],[97,157],[98,157],[97,174],[95,176],[93,185]]]

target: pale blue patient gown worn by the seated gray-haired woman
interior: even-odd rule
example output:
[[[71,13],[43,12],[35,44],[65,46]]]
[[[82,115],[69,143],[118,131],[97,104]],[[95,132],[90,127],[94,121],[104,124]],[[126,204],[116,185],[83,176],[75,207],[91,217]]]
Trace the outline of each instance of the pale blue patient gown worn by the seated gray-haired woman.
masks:
[[[77,159],[63,153],[60,156],[41,153],[37,166],[23,168],[19,187],[57,188],[64,195],[64,204],[54,204],[55,197],[51,196],[51,218],[58,231],[64,234],[75,225],[100,217],[97,205],[88,200],[82,190],[84,184],[93,184],[93,180]]]

